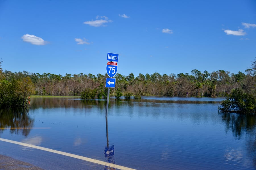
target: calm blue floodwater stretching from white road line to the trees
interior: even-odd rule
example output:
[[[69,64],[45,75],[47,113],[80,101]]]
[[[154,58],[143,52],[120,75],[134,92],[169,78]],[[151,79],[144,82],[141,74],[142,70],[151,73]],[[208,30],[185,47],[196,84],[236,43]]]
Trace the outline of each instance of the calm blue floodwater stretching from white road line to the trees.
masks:
[[[255,169],[256,118],[218,113],[222,100],[110,98],[106,120],[104,99],[36,97],[28,112],[0,111],[0,138],[133,169]],[[0,154],[22,159],[25,151],[12,147],[0,147]]]

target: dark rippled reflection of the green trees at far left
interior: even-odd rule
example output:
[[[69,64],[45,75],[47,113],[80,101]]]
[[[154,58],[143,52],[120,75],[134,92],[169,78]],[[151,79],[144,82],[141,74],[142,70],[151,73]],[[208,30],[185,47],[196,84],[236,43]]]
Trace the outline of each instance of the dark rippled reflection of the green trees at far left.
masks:
[[[10,129],[12,134],[28,136],[34,125],[34,119],[30,118],[26,110],[0,110],[0,131]]]

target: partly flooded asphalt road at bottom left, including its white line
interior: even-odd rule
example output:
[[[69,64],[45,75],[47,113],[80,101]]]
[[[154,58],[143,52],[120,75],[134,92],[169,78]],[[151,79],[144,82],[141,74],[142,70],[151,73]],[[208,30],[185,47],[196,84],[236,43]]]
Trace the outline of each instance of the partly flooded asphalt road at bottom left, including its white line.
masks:
[[[123,169],[133,170],[56,149],[0,138],[0,169]]]

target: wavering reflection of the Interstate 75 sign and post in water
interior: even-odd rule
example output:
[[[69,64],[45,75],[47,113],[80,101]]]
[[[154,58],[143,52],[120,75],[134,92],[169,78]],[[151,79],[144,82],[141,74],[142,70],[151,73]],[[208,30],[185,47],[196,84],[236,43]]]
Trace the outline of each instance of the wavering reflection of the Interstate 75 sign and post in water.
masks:
[[[108,141],[108,117],[107,116],[106,116],[106,136],[107,136],[107,147],[105,147],[105,150],[104,150],[105,158],[108,163],[115,164],[114,146],[113,145],[109,146],[109,141]],[[115,168],[105,165],[104,170],[115,170]]]

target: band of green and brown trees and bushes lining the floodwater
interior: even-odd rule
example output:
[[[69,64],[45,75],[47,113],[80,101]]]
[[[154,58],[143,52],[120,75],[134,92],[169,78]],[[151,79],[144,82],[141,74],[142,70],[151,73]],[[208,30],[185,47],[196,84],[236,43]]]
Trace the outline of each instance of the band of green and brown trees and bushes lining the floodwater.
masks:
[[[107,74],[92,75],[66,73],[65,76],[51,73],[13,73],[3,71],[0,60],[0,108],[26,108],[33,97],[81,97],[102,99],[107,97],[105,88]],[[255,114],[256,59],[245,73],[237,74],[218,70],[209,73],[194,69],[191,73],[160,75],[153,73],[134,76],[116,74],[116,87],[110,88],[110,95],[117,99],[124,96],[135,99],[141,96],[169,97],[226,97],[221,103],[221,112],[242,112]],[[239,102],[234,102],[238,100]],[[246,107],[245,105],[248,105]],[[245,109],[247,108],[247,109]],[[249,110],[248,110],[249,109]],[[246,110],[246,111],[245,111]]]

